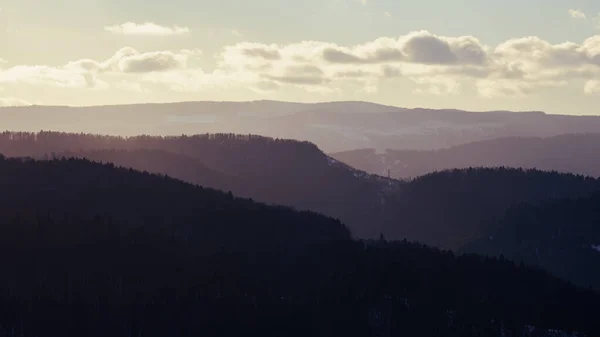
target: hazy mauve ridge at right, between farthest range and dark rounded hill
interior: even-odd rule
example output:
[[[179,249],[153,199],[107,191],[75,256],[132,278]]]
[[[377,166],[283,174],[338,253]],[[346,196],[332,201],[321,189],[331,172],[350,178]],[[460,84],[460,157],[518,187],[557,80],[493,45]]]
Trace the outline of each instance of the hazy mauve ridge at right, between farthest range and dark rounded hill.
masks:
[[[497,167],[600,177],[600,133],[509,137],[431,151],[361,149],[331,154],[358,169],[404,179],[453,168]]]

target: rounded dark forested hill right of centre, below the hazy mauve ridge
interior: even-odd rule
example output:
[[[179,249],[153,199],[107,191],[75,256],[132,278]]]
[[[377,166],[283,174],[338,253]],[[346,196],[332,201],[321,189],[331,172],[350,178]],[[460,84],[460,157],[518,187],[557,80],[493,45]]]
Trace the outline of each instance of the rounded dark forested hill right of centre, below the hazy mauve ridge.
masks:
[[[600,191],[600,180],[573,174],[512,168],[435,172],[403,186],[388,213],[388,237],[459,249],[486,237],[511,207]]]

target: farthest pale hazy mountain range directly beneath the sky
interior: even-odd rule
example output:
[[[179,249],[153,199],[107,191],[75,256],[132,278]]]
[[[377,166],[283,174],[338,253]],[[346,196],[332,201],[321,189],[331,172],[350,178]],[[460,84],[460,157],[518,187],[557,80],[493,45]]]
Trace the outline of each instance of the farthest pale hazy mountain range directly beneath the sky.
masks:
[[[407,109],[366,102],[184,102],[98,107],[3,107],[7,130],[112,135],[260,134],[306,140],[326,152],[431,150],[499,137],[597,132],[598,116]]]

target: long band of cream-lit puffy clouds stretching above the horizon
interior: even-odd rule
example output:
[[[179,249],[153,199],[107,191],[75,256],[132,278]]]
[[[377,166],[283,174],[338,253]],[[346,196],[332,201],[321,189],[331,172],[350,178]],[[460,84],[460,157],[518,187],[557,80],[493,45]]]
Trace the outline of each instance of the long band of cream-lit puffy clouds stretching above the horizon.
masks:
[[[224,46],[214,56],[216,66],[210,71],[191,62],[201,55],[197,49],[141,53],[125,47],[105,60],[0,70],[0,85],[138,91],[160,86],[182,92],[243,87],[259,93],[294,87],[328,94],[375,93],[393,85],[390,81],[404,80],[424,95],[455,95],[468,89],[480,97],[519,97],[569,84],[579,85],[582,93],[600,92],[600,35],[558,44],[529,36],[495,46],[474,36],[428,31],[351,46],[322,41],[240,42]]]

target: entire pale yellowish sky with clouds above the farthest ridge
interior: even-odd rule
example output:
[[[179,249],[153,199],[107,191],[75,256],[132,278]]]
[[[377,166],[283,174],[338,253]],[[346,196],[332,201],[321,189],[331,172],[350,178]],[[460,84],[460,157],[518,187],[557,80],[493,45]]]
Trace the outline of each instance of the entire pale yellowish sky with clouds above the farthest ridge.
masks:
[[[600,114],[597,0],[0,0],[0,106]]]

